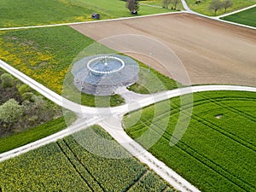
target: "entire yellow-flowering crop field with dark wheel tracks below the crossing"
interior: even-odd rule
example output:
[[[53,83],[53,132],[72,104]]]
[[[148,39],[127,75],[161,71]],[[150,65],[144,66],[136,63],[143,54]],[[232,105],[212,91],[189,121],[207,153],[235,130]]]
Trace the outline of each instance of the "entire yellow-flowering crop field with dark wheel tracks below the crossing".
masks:
[[[128,155],[118,143],[97,143],[92,132],[113,141],[99,126],[79,131],[75,138],[84,139],[82,143],[86,139],[94,141],[93,146],[106,150],[105,154]],[[0,169],[0,187],[5,192],[173,191],[135,158],[110,159],[92,154],[72,136],[5,160],[0,163]]]

